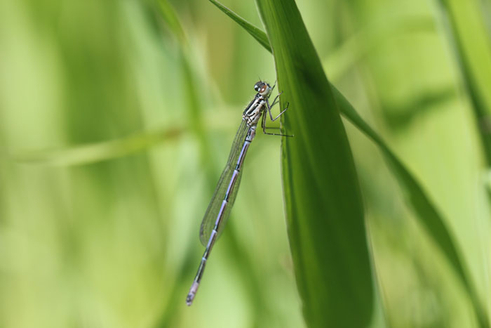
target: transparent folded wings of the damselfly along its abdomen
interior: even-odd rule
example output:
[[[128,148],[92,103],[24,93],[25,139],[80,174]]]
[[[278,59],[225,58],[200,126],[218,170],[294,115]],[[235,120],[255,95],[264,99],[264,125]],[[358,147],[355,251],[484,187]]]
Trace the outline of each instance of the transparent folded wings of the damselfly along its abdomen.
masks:
[[[222,206],[223,199],[225,194],[227,193],[227,188],[229,186],[229,182],[232,174],[234,173],[234,169],[238,160],[239,155],[241,155],[241,149],[243,145],[243,141],[245,140],[245,136],[248,132],[248,126],[245,121],[242,121],[241,126],[238,127],[238,131],[234,138],[234,143],[232,143],[232,147],[230,150],[229,160],[227,161],[227,165],[220,176],[220,180],[218,181],[217,188],[215,188],[215,192],[213,193],[213,197],[211,199],[210,204],[208,205],[208,209],[206,209],[205,216],[203,217],[203,221],[201,222],[201,229],[199,231],[199,239],[201,240],[201,244],[208,244],[208,240],[210,239],[211,232],[215,227],[215,221],[217,220],[218,212],[220,211],[220,207]],[[241,183],[242,171],[239,171],[237,176],[236,183],[234,185],[234,189],[231,190],[229,195],[229,204],[224,210],[224,214],[222,216],[222,223],[218,228],[218,236],[220,236],[225,223],[227,223],[227,219],[230,216],[230,210],[234,205],[235,197],[237,195],[238,185]]]

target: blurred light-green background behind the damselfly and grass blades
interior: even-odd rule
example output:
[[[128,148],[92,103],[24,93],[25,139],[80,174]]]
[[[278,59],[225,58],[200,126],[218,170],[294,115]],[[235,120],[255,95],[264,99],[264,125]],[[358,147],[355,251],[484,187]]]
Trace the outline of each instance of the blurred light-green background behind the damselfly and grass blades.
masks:
[[[297,6],[328,78],[448,219],[489,309],[483,147],[437,3]],[[253,1],[224,4],[262,27]],[[201,218],[241,111],[259,78],[276,77],[271,55],[210,2],[167,5],[0,0],[0,327],[304,326],[281,140],[262,133],[196,301],[185,305]],[[473,327],[462,287],[377,148],[345,126],[386,322]]]

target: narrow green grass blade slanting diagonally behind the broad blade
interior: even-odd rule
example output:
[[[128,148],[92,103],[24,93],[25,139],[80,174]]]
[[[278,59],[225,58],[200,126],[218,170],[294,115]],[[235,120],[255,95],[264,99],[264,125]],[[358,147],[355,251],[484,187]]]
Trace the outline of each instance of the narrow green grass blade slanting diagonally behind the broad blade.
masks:
[[[219,7],[220,8],[220,7]],[[238,15],[235,15],[233,12],[229,11],[227,15],[234,15],[234,20],[237,22],[241,20]],[[240,24],[244,27],[244,25]],[[246,28],[246,27],[245,27]],[[255,39],[266,37],[266,34],[261,30],[257,29],[248,29],[248,32],[255,37]],[[260,35],[255,35],[260,34]],[[270,51],[269,47],[264,47],[268,51]],[[473,303],[473,307],[478,314],[478,319],[480,321],[481,327],[487,327],[483,306],[478,300],[478,296],[474,291],[471,280],[467,275],[467,271],[464,263],[460,259],[459,251],[456,247],[454,239],[450,234],[447,226],[445,225],[445,221],[443,217],[436,209],[436,206],[433,204],[431,199],[426,195],[426,192],[417,181],[417,179],[412,176],[410,171],[405,167],[403,162],[391,151],[389,146],[386,145],[384,140],[367,124],[354,110],[349,101],[342,96],[335,86],[330,85],[335,101],[339,106],[339,112],[343,114],[344,117],[349,119],[349,121],[356,126],[360,131],[362,131],[365,136],[368,136],[382,151],[382,155],[386,159],[386,162],[389,164],[389,169],[396,176],[399,185],[401,186],[401,190],[403,190],[403,195],[408,202],[412,206],[412,209],[416,212],[417,218],[422,223],[422,226],[426,229],[429,236],[432,238],[433,242],[439,247],[440,251],[442,251],[443,255],[449,263],[452,265],[452,268],[455,270],[455,273],[459,277],[460,281],[466,288],[467,293]],[[282,85],[282,91],[285,88]],[[296,133],[296,131],[295,131]]]

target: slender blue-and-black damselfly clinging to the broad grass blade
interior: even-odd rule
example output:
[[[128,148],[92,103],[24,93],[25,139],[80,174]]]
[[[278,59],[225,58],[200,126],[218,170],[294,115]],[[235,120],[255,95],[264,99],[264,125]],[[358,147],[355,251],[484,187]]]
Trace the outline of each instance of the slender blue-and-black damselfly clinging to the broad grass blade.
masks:
[[[276,83],[274,84],[276,86]],[[274,98],[273,103],[269,104],[269,95],[273,91],[274,86],[271,87],[264,81],[259,81],[255,84],[254,90],[257,91],[254,99],[245,107],[242,113],[241,126],[238,127],[238,131],[232,144],[229,160],[225,169],[220,176],[217,188],[211,199],[208,209],[206,209],[205,216],[201,222],[201,229],[199,232],[199,238],[201,243],[206,246],[201,263],[199,263],[198,272],[194,277],[194,282],[187,294],[186,303],[190,306],[193,303],[196,291],[198,291],[201,277],[203,277],[203,271],[205,270],[206,261],[210,256],[210,251],[213,248],[217,238],[222,232],[227,218],[230,216],[231,207],[234,205],[235,197],[237,196],[238,185],[241,182],[242,176],[242,164],[244,162],[245,154],[249,148],[250,143],[253,141],[256,134],[257,123],[262,117],[261,127],[265,134],[273,136],[285,136],[281,133],[268,133],[266,129],[266,113],[269,113],[271,121],[275,121],[288,110],[288,104],[285,109],[273,118],[271,114],[271,107],[278,103],[278,96]],[[263,115],[264,114],[264,115]]]

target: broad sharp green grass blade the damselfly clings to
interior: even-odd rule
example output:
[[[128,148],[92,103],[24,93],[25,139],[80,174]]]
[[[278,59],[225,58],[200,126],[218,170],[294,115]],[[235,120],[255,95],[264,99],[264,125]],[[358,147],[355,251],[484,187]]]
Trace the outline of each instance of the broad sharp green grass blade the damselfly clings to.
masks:
[[[367,327],[374,290],[361,191],[321,62],[294,1],[257,1],[285,113],[283,190],[297,287],[309,327]]]

